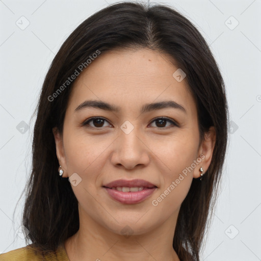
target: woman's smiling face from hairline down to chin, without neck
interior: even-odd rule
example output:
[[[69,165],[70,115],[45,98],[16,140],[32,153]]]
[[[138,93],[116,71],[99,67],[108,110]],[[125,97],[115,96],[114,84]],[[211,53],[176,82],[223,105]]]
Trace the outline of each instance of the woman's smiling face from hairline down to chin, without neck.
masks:
[[[177,69],[166,56],[137,49],[101,53],[77,76],[63,136],[55,137],[63,177],[73,174],[80,220],[91,218],[118,234],[124,229],[142,234],[168,219],[175,222],[193,177],[211,160],[203,160],[196,103]],[[89,107],[87,100],[118,111]],[[167,101],[172,106],[151,106]],[[119,179],[143,179],[156,188],[125,184],[120,187],[138,192],[121,192],[112,188],[116,185],[104,187]]]

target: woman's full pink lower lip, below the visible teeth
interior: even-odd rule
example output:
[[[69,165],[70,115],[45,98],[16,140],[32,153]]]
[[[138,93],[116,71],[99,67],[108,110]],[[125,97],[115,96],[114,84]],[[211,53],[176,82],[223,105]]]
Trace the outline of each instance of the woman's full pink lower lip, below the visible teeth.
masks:
[[[113,199],[123,204],[137,204],[148,198],[155,191],[155,189],[156,188],[146,188],[142,191],[137,192],[122,192],[118,190],[105,188],[105,190]]]

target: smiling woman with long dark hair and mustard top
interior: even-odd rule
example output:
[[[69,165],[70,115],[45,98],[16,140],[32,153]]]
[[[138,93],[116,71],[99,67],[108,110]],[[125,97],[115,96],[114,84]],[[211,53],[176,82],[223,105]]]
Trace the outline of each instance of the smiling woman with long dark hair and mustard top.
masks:
[[[128,2],[95,13],[45,77],[27,247],[0,260],[198,261],[227,115],[219,68],[187,18]]]

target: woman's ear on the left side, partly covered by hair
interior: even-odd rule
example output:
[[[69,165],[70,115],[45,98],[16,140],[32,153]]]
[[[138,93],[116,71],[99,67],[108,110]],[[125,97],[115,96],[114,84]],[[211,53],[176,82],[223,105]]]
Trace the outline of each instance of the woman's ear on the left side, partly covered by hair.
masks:
[[[53,128],[53,134],[54,134],[54,137],[55,137],[57,159],[59,161],[59,164],[62,167],[62,170],[64,171],[63,177],[68,177],[67,164],[66,164],[64,146],[63,146],[63,136],[60,134],[57,127]],[[59,170],[60,170],[60,168],[59,168]],[[57,172],[59,170],[57,169]]]

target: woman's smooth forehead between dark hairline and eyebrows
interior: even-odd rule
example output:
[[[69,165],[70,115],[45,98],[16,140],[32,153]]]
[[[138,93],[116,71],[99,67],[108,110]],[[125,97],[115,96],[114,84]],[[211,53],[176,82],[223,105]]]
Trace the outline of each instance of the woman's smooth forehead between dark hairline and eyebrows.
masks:
[[[169,57],[149,49],[112,50],[100,54],[74,82],[69,107],[74,109],[87,98],[106,100],[132,110],[138,103],[172,98],[186,110],[195,102],[186,78],[178,82],[178,69]]]

